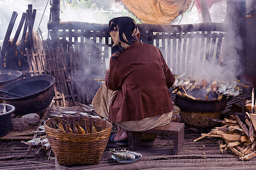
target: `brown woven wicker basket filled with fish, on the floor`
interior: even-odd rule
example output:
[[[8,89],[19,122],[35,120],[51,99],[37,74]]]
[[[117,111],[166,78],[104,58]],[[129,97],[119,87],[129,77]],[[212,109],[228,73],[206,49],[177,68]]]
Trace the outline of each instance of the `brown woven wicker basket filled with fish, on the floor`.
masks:
[[[57,161],[64,164],[98,164],[108,143],[112,124],[107,120],[92,117],[72,117],[79,121],[79,125],[86,124],[91,129],[92,125],[97,129],[96,133],[73,134],[62,130],[51,128],[57,120],[65,125],[65,119],[71,117],[50,118],[46,120],[44,126],[47,138]]]

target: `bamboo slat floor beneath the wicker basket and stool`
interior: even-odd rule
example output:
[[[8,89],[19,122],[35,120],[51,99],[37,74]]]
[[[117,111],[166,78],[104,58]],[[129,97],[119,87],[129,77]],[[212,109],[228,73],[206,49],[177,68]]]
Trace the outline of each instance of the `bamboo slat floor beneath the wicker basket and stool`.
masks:
[[[227,107],[230,108],[231,103]],[[57,107],[55,107],[56,109]],[[77,109],[77,108],[75,108]],[[136,152],[143,157],[137,162],[121,164],[111,158],[110,149],[126,149],[109,141],[98,165],[66,165],[60,166],[53,152],[40,150],[35,153],[32,148],[27,153],[29,146],[21,140],[0,139],[0,169],[256,169],[256,158],[249,161],[240,161],[237,155],[228,151],[219,151],[219,138],[204,137],[196,142],[201,133],[210,129],[188,129],[185,127],[184,148],[180,155],[173,155],[173,136],[162,134],[155,141],[142,141]],[[116,127],[112,133],[116,132]]]

